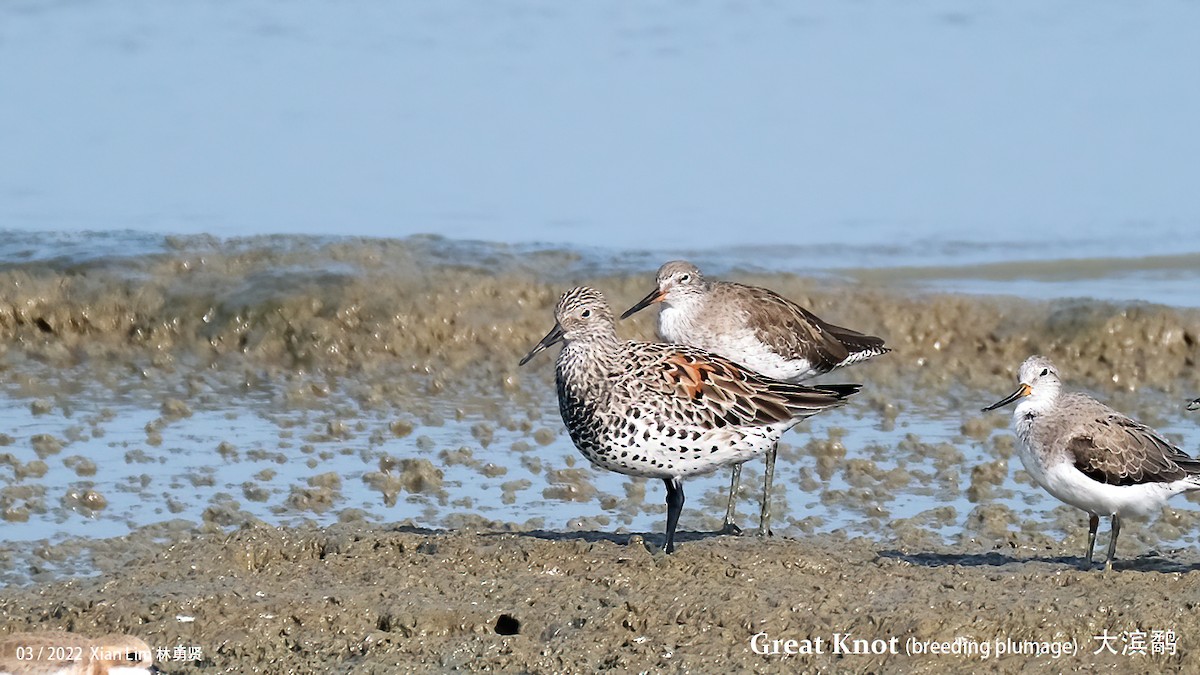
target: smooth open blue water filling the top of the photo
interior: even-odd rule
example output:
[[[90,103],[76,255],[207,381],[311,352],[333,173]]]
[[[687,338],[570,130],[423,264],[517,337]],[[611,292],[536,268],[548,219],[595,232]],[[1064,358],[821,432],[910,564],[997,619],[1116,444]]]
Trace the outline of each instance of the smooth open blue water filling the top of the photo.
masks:
[[[1196,25],[1186,1],[14,0],[0,228],[1195,252]]]

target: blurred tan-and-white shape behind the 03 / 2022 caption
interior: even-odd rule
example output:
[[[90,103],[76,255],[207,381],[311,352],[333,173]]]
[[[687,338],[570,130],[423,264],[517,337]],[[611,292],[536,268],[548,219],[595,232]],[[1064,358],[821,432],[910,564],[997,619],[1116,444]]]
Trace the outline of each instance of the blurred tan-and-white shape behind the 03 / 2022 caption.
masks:
[[[150,645],[132,635],[89,639],[46,631],[0,638],[0,673],[12,675],[148,675],[161,673]]]

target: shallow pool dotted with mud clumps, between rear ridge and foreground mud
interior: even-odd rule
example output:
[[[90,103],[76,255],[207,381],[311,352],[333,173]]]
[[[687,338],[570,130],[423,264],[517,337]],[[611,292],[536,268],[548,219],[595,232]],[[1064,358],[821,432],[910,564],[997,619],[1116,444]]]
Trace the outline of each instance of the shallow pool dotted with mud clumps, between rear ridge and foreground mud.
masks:
[[[8,399],[0,410],[11,436],[6,489],[35,486],[37,494],[6,504],[5,538],[116,537],[169,519],[218,526],[256,519],[328,525],[344,514],[433,528],[517,524],[658,533],[662,527],[661,485],[590,468],[562,430],[553,401],[544,401],[529,418],[522,416],[528,424],[512,429],[478,413],[458,419],[434,414],[433,424],[422,424],[407,414],[361,411],[336,390],[323,399],[322,410],[281,410],[262,393],[235,405],[212,404],[187,406],[186,417],[172,418],[163,416],[161,405],[114,405],[89,395],[60,400],[36,414],[28,400]],[[952,542],[970,527],[974,509],[997,504],[1016,514],[1018,528],[1070,533],[1064,528],[1082,526],[1078,514],[1074,525],[1058,520],[1057,502],[1027,478],[1014,480],[1019,461],[1010,452],[996,452],[995,438],[1008,431],[995,428],[1007,424],[1007,416],[980,419],[976,407],[904,407],[902,416],[887,422],[863,406],[850,406],[786,436],[773,530],[780,536],[847,532],[890,540],[899,536],[893,528],[900,521],[917,519]],[[965,424],[991,431],[968,438]],[[1178,432],[1183,424],[1176,419],[1163,429]],[[40,455],[38,435],[61,441],[61,450]],[[80,456],[95,473],[80,476],[72,468],[77,462],[68,458]],[[380,472],[385,458],[427,459],[437,479],[416,483],[414,491],[402,468]],[[31,477],[30,462],[38,459],[46,472]],[[972,495],[972,471],[995,461],[1001,465],[994,484],[982,496]],[[757,522],[760,464],[748,464],[743,476],[739,510],[748,528]],[[18,472],[23,476],[13,479]],[[336,486],[323,491],[330,473]],[[394,484],[385,480],[389,476]],[[727,480],[727,472],[720,471],[686,483],[684,530],[720,526]],[[103,496],[106,506],[88,509],[66,498],[86,490]],[[385,495],[395,503],[389,506]],[[1200,516],[1186,500],[1172,507]],[[1145,539],[1178,546],[1194,543],[1195,534]]]

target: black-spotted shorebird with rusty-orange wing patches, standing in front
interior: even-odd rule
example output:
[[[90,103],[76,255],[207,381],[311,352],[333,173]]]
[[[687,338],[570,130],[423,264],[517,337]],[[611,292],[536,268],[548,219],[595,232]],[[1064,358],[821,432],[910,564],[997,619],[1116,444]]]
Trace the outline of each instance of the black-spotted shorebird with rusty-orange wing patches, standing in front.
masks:
[[[554,319],[521,365],[564,342],[554,381],[571,441],[595,466],[662,479],[667,552],[674,550],[684,478],[746,461],[860,388],[804,387],[696,347],[618,340],[608,303],[587,287],[563,293]]]

